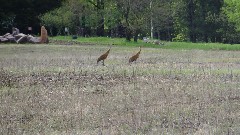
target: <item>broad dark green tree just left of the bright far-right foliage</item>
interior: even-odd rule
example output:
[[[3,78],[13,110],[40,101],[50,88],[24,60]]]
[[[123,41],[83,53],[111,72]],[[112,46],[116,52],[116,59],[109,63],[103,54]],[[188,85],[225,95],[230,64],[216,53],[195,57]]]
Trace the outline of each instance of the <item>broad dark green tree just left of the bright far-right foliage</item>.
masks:
[[[181,0],[175,1],[175,28],[191,42],[221,41],[221,8],[223,0]],[[177,26],[177,27],[176,27]],[[178,33],[178,34],[179,34]]]

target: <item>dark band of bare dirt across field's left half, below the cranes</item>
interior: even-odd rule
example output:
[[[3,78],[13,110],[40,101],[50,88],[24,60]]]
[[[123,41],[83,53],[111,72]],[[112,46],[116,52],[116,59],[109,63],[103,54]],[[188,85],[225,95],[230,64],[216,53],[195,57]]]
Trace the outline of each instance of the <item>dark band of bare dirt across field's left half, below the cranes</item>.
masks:
[[[0,87],[26,87],[34,85],[44,86],[75,86],[102,85],[111,87],[116,84],[130,82],[132,79],[121,75],[100,75],[86,72],[58,72],[58,73],[30,73],[14,74],[0,70]]]

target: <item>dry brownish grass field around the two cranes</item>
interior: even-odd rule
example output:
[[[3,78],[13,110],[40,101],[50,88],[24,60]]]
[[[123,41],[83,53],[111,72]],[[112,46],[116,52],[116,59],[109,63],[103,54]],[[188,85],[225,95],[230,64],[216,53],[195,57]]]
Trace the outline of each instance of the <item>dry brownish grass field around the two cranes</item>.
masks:
[[[240,52],[0,45],[0,134],[240,134]]]

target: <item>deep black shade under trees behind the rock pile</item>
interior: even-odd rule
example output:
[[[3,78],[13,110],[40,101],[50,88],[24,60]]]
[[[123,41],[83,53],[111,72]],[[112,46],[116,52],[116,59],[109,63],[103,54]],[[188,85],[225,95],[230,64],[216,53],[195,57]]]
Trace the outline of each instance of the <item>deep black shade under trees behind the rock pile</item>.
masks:
[[[38,16],[61,6],[63,0],[0,0],[0,34],[17,27],[22,33],[39,34]],[[28,30],[32,27],[32,31]]]

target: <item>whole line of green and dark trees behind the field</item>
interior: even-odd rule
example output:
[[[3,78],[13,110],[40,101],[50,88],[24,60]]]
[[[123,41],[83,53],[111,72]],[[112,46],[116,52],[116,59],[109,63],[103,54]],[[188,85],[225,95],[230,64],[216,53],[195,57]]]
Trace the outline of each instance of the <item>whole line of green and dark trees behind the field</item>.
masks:
[[[4,3],[0,7],[1,32],[12,26],[26,30],[30,25],[33,28],[45,25],[52,36],[240,42],[237,0],[12,0],[1,3]]]

